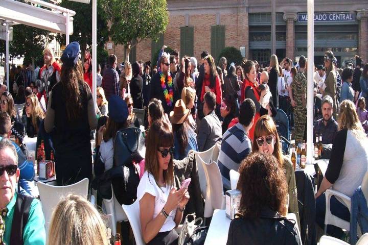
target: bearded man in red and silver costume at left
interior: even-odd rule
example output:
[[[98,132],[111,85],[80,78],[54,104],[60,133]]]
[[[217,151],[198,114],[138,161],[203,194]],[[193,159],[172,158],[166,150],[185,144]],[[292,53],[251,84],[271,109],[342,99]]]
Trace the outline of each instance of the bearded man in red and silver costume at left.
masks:
[[[47,102],[47,98],[49,97],[48,93],[54,87],[54,85],[60,81],[60,71],[61,67],[56,62],[53,52],[50,48],[45,48],[43,50],[43,61],[44,66],[40,68],[37,79],[41,81],[40,84],[37,84],[39,88],[38,100],[41,100],[41,96],[44,95],[44,98]]]

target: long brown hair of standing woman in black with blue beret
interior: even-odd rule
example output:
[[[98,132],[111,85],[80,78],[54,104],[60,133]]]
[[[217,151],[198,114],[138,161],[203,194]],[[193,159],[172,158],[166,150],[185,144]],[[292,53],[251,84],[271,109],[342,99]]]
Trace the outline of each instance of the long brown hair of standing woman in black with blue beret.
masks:
[[[72,121],[80,116],[83,96],[87,97],[90,93],[88,84],[83,80],[80,60],[74,66],[64,64],[61,67],[60,83],[65,97],[66,116],[68,121]]]

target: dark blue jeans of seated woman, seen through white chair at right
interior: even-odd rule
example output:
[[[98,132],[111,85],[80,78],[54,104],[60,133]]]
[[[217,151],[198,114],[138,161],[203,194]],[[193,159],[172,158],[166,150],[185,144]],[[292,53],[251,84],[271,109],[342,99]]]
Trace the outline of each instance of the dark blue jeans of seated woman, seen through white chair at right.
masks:
[[[333,215],[350,222],[349,209],[345,205],[340,203],[334,195],[331,197],[330,210]],[[325,228],[325,214],[326,195],[325,193],[323,193],[316,199],[316,223],[322,229]],[[344,235],[344,232],[341,230],[341,228],[333,225],[327,226],[327,233],[339,239],[341,239],[341,237],[343,237]]]

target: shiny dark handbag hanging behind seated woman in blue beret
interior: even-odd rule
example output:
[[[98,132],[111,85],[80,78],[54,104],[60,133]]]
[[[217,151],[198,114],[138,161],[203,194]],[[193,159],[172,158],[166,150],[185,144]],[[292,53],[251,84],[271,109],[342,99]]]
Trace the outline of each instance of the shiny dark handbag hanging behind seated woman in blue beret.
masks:
[[[129,127],[117,132],[114,142],[114,166],[129,166],[145,158],[146,146],[140,128]]]

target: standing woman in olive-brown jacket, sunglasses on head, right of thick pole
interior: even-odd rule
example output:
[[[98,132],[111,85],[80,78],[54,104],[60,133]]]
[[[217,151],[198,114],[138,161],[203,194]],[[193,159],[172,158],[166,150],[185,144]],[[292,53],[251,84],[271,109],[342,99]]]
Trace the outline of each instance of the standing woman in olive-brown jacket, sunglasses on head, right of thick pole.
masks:
[[[337,75],[336,75],[336,67],[334,64],[334,58],[332,51],[327,51],[325,53],[324,62],[325,62],[325,69],[326,69],[326,80],[324,89],[320,89],[321,92],[323,92],[323,97],[326,95],[330,95],[333,101],[333,117],[337,118],[337,105],[339,105],[339,102],[337,101],[336,97],[336,84],[337,84]]]

